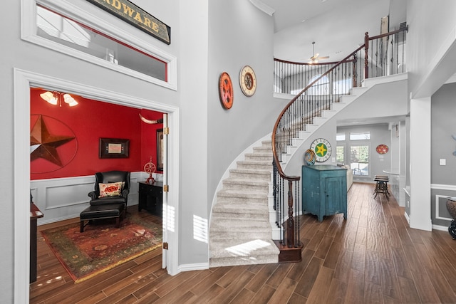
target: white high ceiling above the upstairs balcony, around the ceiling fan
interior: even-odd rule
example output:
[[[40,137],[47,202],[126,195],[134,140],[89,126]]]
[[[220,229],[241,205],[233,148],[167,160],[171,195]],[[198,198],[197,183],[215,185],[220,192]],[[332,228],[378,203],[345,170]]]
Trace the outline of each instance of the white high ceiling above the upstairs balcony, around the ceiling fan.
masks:
[[[313,41],[316,53],[330,56],[326,61],[345,58],[364,43],[364,33],[380,34],[380,21],[389,15],[390,2],[398,3],[398,0],[250,1],[269,14],[274,11],[274,58],[296,62],[309,61]],[[405,21],[405,11],[403,15],[397,24],[390,20],[390,31]]]

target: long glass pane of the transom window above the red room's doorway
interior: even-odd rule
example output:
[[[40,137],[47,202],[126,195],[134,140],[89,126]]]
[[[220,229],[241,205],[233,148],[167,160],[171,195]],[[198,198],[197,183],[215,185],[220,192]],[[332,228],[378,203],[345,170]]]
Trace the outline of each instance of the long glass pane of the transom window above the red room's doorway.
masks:
[[[102,58],[115,65],[122,65],[130,70],[167,81],[167,63],[160,59],[42,6],[36,7],[36,15],[38,36]]]

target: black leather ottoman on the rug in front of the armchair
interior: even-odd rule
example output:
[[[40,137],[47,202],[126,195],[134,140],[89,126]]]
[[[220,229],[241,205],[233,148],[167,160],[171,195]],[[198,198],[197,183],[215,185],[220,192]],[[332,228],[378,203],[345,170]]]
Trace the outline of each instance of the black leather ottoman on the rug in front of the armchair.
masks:
[[[88,206],[79,214],[81,220],[81,232],[84,232],[84,227],[95,219],[116,219],[115,228],[119,228],[120,221],[125,219],[125,204],[108,204]],[[84,221],[88,221],[84,224]]]

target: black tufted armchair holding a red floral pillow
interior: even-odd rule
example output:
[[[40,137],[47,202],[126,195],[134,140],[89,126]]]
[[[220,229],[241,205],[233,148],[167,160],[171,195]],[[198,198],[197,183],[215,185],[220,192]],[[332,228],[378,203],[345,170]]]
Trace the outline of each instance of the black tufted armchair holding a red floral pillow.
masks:
[[[109,171],[95,173],[95,189],[94,191],[89,192],[88,196],[90,196],[90,205],[92,206],[125,204],[124,207],[126,210],[129,193],[130,172]]]

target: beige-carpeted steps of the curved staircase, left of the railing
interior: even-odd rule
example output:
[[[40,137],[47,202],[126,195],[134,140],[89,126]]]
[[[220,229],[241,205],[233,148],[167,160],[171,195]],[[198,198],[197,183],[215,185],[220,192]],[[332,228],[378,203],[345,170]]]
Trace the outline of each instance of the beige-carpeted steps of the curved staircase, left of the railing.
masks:
[[[209,226],[209,266],[277,263],[271,241],[268,194],[272,171],[271,141],[254,147],[229,171],[217,192]]]

